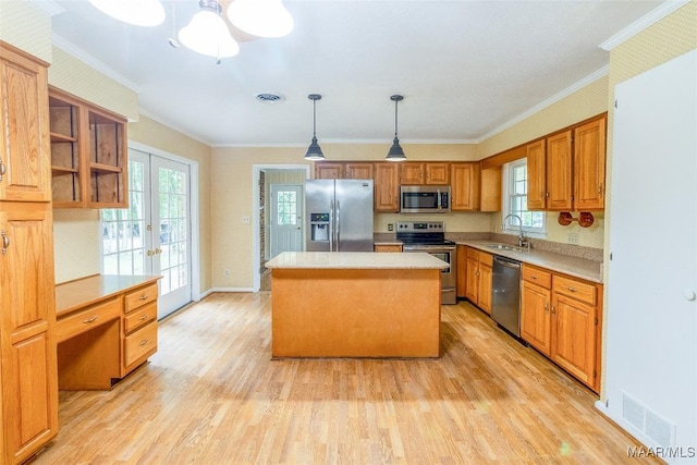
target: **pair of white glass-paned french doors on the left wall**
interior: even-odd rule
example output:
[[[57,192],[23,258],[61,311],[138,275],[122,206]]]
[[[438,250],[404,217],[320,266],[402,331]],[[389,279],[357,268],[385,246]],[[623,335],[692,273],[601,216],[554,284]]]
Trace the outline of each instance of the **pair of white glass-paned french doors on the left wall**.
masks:
[[[101,210],[102,272],[161,276],[158,318],[192,301],[187,164],[129,150],[129,208]]]

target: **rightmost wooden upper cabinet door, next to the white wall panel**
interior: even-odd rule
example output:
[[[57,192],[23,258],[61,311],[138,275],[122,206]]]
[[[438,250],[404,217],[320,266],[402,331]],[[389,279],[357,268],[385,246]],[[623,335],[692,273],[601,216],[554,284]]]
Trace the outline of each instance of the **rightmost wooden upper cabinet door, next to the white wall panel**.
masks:
[[[574,181],[576,210],[602,210],[604,208],[604,118],[574,130]]]

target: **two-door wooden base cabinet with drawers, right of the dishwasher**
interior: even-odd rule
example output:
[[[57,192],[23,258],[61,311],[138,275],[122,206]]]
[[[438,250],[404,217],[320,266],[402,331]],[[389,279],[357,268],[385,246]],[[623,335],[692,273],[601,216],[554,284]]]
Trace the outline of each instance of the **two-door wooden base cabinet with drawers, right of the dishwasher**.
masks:
[[[602,285],[523,265],[521,338],[600,389]]]

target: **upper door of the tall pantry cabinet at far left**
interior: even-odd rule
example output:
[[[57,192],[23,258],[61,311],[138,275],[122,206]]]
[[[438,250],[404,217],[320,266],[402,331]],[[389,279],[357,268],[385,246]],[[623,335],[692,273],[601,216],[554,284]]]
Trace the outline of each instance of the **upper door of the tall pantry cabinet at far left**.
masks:
[[[50,201],[46,66],[0,44],[0,200]]]

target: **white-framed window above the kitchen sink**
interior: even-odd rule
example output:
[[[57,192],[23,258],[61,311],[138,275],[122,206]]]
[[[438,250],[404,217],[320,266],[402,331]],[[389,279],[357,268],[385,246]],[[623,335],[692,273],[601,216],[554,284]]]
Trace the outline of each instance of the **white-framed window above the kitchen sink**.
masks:
[[[523,231],[529,235],[542,236],[547,232],[545,211],[527,210],[527,160],[521,159],[504,166],[503,217],[517,215],[523,219]],[[518,221],[509,218],[505,231],[517,232]]]

